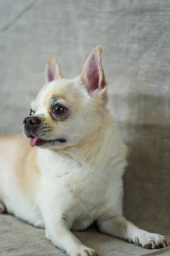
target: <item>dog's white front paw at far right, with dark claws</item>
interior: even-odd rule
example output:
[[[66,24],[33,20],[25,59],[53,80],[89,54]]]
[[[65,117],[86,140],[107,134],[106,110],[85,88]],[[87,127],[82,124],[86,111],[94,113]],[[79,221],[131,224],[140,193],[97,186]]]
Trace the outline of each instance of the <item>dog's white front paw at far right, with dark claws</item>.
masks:
[[[135,238],[135,243],[147,249],[160,249],[169,246],[169,243],[164,239],[164,236],[146,231]]]

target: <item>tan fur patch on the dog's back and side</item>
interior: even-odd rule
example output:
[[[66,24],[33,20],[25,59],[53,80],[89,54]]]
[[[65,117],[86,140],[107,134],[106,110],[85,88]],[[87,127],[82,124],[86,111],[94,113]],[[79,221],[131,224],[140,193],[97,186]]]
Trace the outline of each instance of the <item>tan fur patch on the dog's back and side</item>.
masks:
[[[10,147],[9,143],[10,142]],[[0,155],[9,159],[8,168],[23,192],[30,189],[40,175],[35,163],[37,148],[31,148],[23,135],[0,137]],[[25,193],[25,192],[24,192]]]

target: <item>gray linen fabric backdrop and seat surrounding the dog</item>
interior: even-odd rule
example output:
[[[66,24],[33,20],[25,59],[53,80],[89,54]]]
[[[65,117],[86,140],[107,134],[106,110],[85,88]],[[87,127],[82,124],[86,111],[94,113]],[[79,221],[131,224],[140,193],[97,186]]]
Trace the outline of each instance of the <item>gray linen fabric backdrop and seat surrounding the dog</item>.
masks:
[[[129,146],[125,216],[170,241],[170,1],[1,0],[0,134],[20,133],[50,55],[74,78],[96,45],[111,113]],[[76,236],[100,256],[169,255],[99,234]],[[0,215],[0,255],[65,255],[40,230]]]

